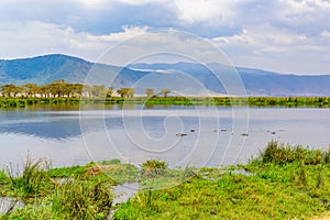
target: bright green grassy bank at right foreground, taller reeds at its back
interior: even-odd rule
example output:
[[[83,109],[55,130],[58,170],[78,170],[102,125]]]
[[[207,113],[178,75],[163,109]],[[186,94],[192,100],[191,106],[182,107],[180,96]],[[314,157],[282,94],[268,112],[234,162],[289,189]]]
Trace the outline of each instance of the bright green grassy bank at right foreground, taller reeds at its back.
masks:
[[[271,142],[246,165],[201,168],[180,185],[158,190],[144,188],[119,207],[114,219],[310,219],[322,216],[330,210],[327,154],[329,151]],[[235,169],[243,169],[248,175]]]

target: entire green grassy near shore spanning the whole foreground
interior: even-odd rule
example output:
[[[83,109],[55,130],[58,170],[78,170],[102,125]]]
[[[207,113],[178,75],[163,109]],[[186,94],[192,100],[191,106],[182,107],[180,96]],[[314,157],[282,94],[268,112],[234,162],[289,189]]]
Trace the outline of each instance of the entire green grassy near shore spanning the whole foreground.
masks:
[[[124,183],[140,189],[113,204],[113,187]],[[111,160],[52,168],[28,158],[19,175],[0,170],[0,196],[12,199],[2,219],[106,219],[110,212],[112,219],[327,219],[330,148],[270,142],[248,164],[220,167]],[[24,205],[14,208],[18,201]]]

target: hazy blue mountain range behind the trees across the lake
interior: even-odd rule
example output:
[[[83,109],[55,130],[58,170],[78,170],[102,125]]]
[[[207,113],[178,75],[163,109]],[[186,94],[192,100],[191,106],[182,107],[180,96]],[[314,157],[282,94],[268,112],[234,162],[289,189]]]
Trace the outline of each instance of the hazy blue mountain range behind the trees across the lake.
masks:
[[[209,66],[219,73],[232,74],[227,72],[229,67],[221,64],[212,63]],[[330,96],[329,75],[284,75],[242,67],[237,67],[237,70],[249,96]],[[109,78],[114,78],[111,85]],[[91,85],[103,84],[114,88],[134,85],[138,94],[143,94],[145,88],[169,88],[177,94],[196,96],[205,95],[206,90],[227,94],[221,81],[208,68],[193,63],[133,64],[121,68],[59,54],[0,59],[0,85],[44,85],[58,79]]]

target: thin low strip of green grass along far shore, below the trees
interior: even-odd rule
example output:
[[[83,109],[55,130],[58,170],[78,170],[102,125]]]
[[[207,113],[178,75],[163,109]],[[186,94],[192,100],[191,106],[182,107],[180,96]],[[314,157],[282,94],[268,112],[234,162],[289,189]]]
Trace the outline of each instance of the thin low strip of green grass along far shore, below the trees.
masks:
[[[24,108],[33,105],[184,105],[184,106],[251,106],[251,107],[330,107],[330,97],[135,97],[135,98],[0,98],[0,108]]]

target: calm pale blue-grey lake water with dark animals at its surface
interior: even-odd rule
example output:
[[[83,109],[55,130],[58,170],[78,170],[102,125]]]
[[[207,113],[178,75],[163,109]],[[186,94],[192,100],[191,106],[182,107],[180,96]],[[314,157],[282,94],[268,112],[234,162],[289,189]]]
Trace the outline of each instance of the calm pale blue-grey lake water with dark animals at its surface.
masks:
[[[329,134],[330,109],[32,107],[0,111],[0,165],[30,154],[54,166],[110,158],[217,166],[248,162],[271,140],[326,148]]]

